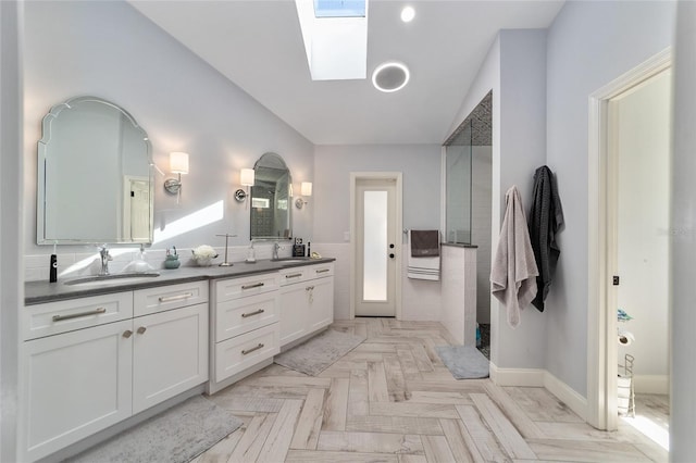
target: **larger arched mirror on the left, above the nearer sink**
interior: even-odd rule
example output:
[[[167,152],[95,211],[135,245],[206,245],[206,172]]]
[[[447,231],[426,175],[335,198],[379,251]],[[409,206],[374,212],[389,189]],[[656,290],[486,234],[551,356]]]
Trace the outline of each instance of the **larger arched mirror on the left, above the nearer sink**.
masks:
[[[44,117],[37,242],[152,242],[150,141],[114,103],[77,97]]]

